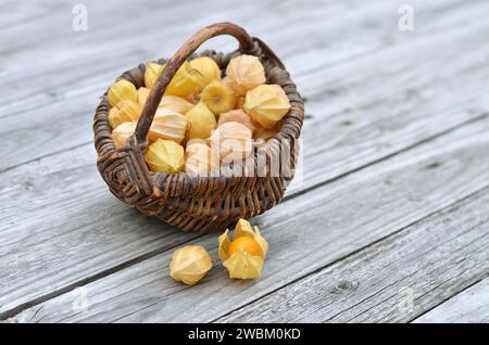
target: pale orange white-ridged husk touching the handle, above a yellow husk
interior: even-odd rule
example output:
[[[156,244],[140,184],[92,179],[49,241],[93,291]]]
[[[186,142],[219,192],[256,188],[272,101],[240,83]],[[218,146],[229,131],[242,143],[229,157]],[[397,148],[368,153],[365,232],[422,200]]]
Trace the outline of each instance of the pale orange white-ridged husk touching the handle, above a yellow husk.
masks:
[[[148,132],[148,139],[151,141],[166,139],[181,143],[188,128],[189,123],[184,115],[167,108],[158,108]]]

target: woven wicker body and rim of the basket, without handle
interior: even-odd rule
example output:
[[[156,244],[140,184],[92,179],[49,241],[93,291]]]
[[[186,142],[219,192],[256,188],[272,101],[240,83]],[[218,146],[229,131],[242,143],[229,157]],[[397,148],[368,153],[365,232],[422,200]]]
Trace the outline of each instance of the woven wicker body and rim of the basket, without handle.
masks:
[[[258,51],[260,46],[256,42]],[[248,53],[248,52],[246,52]],[[205,50],[188,59],[210,56],[222,71],[228,61],[242,54],[238,49],[229,53]],[[97,167],[110,191],[121,201],[140,212],[156,216],[161,220],[187,231],[210,231],[224,227],[238,218],[250,218],[274,207],[284,197],[288,181],[293,178],[297,161],[297,139],[304,120],[303,100],[297,91],[287,69],[266,54],[255,54],[264,65],[267,84],[279,85],[287,94],[290,110],[283,118],[280,130],[262,146],[253,149],[246,159],[229,166],[220,166],[216,174],[189,173],[170,174],[151,171],[147,166],[142,149],[133,135],[123,148],[116,148],[112,127],[109,124],[110,104],[106,91],[101,97],[93,117]],[[156,62],[164,63],[166,59]],[[136,88],[143,86],[146,63],[122,74],[116,80],[125,79]],[[289,139],[290,156],[287,158],[292,170],[280,170],[274,175],[273,159],[279,158],[283,139]],[[259,161],[259,159],[265,159]],[[261,165],[261,162],[264,165]],[[278,161],[277,161],[278,162]],[[281,166],[281,162],[278,162]],[[251,165],[251,166],[250,166]],[[254,168],[255,174],[243,169]],[[217,174],[218,171],[218,174]],[[240,176],[237,171],[243,171]],[[212,173],[212,171],[211,171]]]

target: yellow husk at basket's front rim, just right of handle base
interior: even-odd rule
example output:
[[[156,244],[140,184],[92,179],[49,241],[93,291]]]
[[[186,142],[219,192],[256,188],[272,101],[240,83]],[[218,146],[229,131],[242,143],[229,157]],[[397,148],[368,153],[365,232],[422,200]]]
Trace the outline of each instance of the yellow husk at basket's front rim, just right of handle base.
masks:
[[[145,161],[152,171],[180,173],[185,165],[185,150],[173,140],[158,139],[148,146]]]

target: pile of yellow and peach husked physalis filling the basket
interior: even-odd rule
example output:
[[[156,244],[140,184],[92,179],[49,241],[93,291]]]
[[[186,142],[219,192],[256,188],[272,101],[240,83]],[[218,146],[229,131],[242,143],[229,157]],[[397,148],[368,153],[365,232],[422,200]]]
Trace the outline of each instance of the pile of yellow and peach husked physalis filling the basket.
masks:
[[[109,122],[116,148],[135,132],[137,120],[165,65],[146,65],[145,86],[118,80],[108,91]],[[280,129],[290,108],[278,85],[267,85],[256,56],[229,61],[224,77],[216,62],[202,56],[187,61],[166,88],[148,133],[145,159],[152,171],[206,175],[244,159],[253,139],[262,142]]]

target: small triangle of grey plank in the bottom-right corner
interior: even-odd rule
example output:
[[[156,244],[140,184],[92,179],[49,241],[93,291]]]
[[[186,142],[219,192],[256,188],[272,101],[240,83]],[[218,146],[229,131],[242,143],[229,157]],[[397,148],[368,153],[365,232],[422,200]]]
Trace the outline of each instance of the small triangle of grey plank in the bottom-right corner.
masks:
[[[476,207],[479,207],[477,205]],[[487,228],[485,229],[487,230]],[[487,233],[487,231],[486,231]],[[487,247],[486,247],[487,251]],[[489,322],[489,278],[414,320],[415,323]]]

